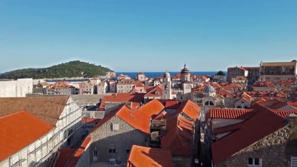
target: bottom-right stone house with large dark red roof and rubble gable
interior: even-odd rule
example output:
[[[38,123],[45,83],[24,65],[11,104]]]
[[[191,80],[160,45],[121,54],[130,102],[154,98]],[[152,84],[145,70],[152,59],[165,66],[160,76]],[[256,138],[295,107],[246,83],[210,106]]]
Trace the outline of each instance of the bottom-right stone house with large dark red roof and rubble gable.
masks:
[[[214,167],[293,167],[297,115],[291,113],[296,111],[275,111],[260,104],[254,109],[213,113],[212,118],[241,120],[220,121],[224,124],[218,122],[219,128],[212,129],[212,136],[216,136],[211,146]]]

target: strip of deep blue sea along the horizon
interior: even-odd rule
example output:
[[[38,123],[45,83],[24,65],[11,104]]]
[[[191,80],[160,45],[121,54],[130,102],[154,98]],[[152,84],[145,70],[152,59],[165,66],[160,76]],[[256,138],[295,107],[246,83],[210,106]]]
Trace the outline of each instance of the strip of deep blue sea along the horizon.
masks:
[[[123,74],[123,75],[127,75],[131,78],[136,78],[138,72],[116,72],[116,76]],[[163,76],[164,72],[144,72],[145,75],[148,78],[156,78],[156,77],[161,77]],[[180,72],[176,71],[176,72],[169,72],[170,76],[174,76],[176,74],[179,74]],[[201,76],[201,75],[214,75],[216,74],[217,71],[191,71],[191,74],[195,74],[196,76]],[[225,72],[226,73],[226,72]]]

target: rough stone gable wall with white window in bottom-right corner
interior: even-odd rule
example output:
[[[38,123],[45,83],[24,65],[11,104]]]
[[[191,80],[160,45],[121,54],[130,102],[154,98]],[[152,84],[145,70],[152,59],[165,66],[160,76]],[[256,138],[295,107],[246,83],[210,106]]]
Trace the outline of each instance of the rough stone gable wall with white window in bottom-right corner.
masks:
[[[247,167],[248,158],[262,158],[263,167],[290,167],[291,156],[296,156],[296,153],[288,151],[292,147],[288,145],[291,133],[292,128],[285,126],[215,167]]]

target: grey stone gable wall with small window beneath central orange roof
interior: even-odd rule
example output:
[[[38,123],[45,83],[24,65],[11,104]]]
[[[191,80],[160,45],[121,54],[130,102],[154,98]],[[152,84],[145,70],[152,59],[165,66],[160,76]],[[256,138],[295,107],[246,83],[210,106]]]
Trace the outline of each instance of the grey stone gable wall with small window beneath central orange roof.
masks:
[[[119,124],[119,130],[112,131],[112,124]],[[94,148],[98,150],[98,161],[109,162],[110,158],[115,158],[118,162],[127,162],[129,153],[126,150],[131,150],[132,145],[148,146],[147,134],[134,129],[117,116],[90,133],[90,136],[92,145],[89,151]],[[109,153],[108,149],[116,149],[116,153]]]

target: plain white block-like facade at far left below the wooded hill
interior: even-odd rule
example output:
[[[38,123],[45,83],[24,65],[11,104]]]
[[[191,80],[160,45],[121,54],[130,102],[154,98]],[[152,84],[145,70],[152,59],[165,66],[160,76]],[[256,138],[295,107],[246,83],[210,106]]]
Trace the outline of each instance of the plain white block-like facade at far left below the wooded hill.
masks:
[[[25,97],[33,91],[32,78],[0,81],[0,97]]]

